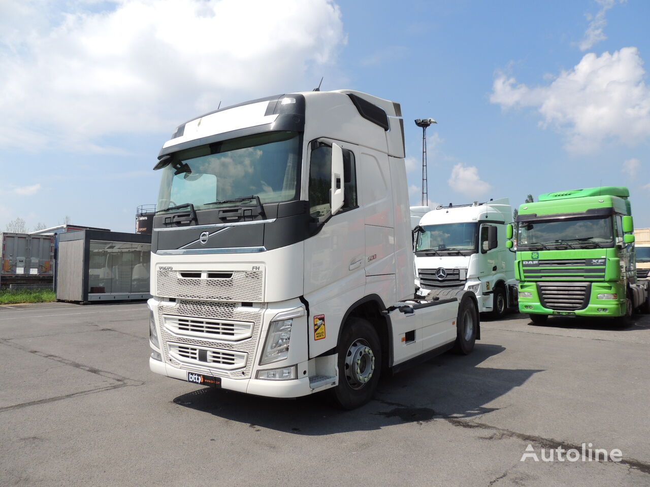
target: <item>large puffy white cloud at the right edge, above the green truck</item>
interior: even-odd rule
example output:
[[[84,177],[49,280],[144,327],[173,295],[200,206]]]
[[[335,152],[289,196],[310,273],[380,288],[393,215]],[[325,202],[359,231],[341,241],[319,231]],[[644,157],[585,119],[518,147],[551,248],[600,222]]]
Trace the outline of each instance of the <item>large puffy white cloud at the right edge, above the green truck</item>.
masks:
[[[490,95],[502,108],[536,108],[543,127],[564,132],[570,151],[590,152],[605,140],[634,145],[650,137],[650,88],[636,47],[585,55],[548,86],[516,84],[499,73]]]

